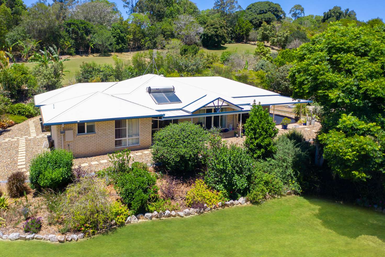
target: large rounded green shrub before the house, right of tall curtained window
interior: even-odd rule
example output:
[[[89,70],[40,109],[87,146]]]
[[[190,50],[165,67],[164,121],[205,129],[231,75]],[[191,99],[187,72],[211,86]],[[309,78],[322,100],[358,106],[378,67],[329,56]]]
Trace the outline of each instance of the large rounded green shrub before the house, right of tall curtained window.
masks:
[[[194,171],[205,162],[208,140],[209,133],[199,125],[169,124],[154,134],[152,160],[169,171]]]

